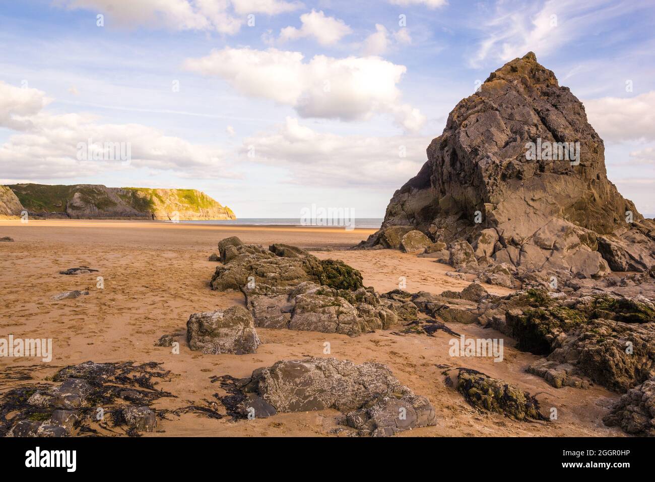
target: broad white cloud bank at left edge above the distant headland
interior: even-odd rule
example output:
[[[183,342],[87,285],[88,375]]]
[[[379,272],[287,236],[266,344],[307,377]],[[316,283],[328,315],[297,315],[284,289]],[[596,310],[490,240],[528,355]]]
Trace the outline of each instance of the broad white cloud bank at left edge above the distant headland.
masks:
[[[21,89],[0,81],[0,127],[14,134],[0,146],[0,163],[7,178],[70,178],[103,170],[146,167],[175,170],[181,177],[223,171],[221,151],[191,144],[140,124],[104,124],[83,113],[55,114],[43,110],[48,99],[37,89]],[[129,166],[121,159],[83,159],[81,145],[102,150],[105,143],[124,143],[131,151]],[[88,152],[88,150],[86,150]]]

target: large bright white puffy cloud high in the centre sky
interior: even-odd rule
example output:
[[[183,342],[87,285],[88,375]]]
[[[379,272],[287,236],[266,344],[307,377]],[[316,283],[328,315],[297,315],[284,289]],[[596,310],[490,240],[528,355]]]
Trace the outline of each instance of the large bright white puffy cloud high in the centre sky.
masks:
[[[425,117],[402,103],[397,87],[405,66],[372,56],[303,59],[300,52],[228,47],[187,59],[184,66],[221,77],[242,94],[292,106],[301,117],[352,121],[389,113],[407,131],[423,125]]]

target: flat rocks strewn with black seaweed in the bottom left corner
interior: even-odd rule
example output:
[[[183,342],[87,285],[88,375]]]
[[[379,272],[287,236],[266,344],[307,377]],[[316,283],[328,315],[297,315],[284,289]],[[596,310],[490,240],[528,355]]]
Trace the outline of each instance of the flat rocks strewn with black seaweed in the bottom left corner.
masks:
[[[159,363],[94,363],[64,367],[52,382],[24,384],[0,397],[0,436],[65,437],[150,432],[160,415],[149,405],[173,395],[155,388]]]

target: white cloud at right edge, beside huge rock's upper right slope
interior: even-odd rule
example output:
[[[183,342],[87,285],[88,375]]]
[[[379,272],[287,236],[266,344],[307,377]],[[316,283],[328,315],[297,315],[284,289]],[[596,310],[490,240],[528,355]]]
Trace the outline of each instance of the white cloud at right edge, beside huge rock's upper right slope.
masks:
[[[605,141],[655,140],[655,90],[634,97],[585,100],[584,108]]]

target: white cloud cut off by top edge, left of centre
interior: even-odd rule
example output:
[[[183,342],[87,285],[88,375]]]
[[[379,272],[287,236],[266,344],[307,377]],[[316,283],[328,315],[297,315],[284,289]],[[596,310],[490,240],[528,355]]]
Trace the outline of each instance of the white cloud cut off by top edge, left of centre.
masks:
[[[301,8],[284,0],[56,0],[66,9],[92,10],[120,26],[237,33],[246,14],[275,15]]]

